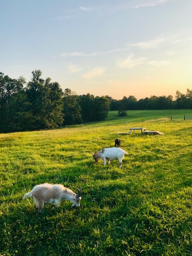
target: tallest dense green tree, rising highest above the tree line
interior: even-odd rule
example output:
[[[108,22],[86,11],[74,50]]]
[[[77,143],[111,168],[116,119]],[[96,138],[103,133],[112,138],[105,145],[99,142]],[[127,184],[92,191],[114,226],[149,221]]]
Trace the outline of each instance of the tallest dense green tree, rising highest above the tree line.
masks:
[[[26,93],[30,102],[32,118],[29,128],[45,129],[56,128],[62,125],[62,96],[63,92],[57,82],[50,83],[50,78],[40,78],[42,72],[34,70],[32,80],[28,82]]]

